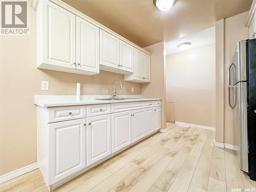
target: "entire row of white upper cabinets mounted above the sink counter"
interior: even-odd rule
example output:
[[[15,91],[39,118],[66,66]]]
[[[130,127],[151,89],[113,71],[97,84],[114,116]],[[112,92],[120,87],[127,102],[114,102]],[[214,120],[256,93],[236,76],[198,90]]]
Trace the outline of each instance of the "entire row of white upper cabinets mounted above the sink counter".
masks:
[[[150,82],[151,54],[62,1],[38,1],[37,68]]]

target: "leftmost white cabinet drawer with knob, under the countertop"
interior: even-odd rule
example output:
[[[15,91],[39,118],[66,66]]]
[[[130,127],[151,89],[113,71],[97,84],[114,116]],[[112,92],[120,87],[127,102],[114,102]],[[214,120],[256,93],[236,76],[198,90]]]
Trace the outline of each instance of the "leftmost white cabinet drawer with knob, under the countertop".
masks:
[[[86,117],[86,106],[60,106],[49,108],[49,123]]]

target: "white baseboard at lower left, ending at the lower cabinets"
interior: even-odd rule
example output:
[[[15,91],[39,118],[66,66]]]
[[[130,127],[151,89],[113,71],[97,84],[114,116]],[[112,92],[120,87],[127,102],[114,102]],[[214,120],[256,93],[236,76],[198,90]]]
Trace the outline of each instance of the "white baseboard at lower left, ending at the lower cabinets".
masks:
[[[32,170],[35,170],[37,168],[38,168],[37,163],[33,163],[28,166],[19,168],[17,170],[13,170],[13,172],[10,172],[10,173],[0,176],[0,184],[4,183],[6,181],[9,181],[15,177],[18,177],[18,176],[24,175],[28,172],[31,172]]]

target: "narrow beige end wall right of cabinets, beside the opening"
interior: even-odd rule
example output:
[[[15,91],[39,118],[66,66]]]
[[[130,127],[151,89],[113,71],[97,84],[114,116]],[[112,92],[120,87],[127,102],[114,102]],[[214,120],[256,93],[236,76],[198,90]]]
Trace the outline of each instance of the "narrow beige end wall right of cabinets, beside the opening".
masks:
[[[142,84],[141,93],[144,97],[162,99],[161,106],[161,127],[166,127],[165,116],[165,42],[159,42],[144,48],[152,53],[151,56],[151,83]]]

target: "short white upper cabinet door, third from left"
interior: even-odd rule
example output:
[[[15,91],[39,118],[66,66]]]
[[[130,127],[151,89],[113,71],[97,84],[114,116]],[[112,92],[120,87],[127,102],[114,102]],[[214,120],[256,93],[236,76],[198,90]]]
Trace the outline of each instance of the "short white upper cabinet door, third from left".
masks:
[[[100,65],[119,68],[119,39],[100,30]]]

